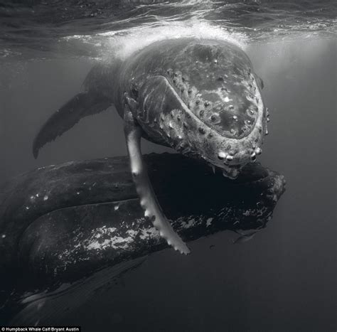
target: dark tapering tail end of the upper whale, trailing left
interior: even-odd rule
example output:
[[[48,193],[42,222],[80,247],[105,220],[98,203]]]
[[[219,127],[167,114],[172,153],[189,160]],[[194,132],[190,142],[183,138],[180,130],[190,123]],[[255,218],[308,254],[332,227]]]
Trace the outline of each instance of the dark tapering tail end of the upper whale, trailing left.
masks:
[[[105,111],[113,103],[112,79],[114,67],[95,65],[85,78],[82,92],[78,93],[58,109],[43,124],[33,141],[33,156],[48,142],[73,128],[83,117]]]

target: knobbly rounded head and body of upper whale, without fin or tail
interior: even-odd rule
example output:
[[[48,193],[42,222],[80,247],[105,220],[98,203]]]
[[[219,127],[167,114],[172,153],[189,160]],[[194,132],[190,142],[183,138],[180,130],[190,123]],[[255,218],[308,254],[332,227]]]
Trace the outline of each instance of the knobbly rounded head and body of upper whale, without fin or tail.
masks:
[[[247,55],[225,41],[154,43],[122,65],[115,105],[155,143],[222,168],[230,178],[261,152],[267,133],[262,82]]]

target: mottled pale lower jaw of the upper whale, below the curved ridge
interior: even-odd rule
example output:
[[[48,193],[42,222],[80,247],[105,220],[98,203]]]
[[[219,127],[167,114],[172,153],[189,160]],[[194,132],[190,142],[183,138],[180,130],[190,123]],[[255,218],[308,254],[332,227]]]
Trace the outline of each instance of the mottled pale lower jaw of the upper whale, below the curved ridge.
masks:
[[[266,109],[260,92],[257,97],[258,115],[249,134],[233,138],[219,134],[186,105],[166,77],[152,78],[141,90],[139,120],[149,136],[162,141],[186,156],[203,159],[221,168],[229,178],[236,178],[242,166],[255,161],[261,154],[263,133],[266,130]],[[157,112],[161,109],[161,112]]]

